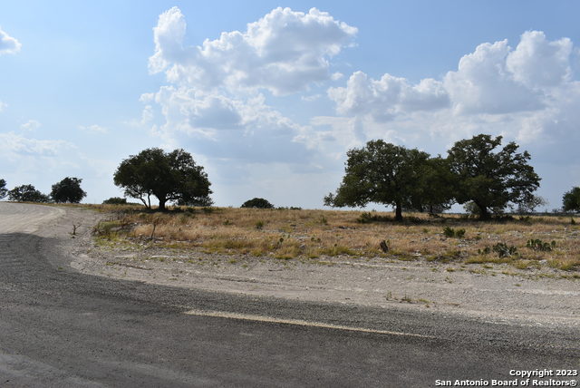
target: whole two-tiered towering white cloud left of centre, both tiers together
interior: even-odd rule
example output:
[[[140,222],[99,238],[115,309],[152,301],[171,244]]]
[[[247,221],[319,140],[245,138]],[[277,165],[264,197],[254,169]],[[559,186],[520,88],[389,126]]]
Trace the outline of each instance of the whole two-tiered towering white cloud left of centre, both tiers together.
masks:
[[[153,133],[168,147],[221,160],[307,163],[312,151],[302,127],[269,106],[265,92],[285,95],[338,80],[342,74],[331,71],[330,60],[353,44],[357,29],[316,8],[275,8],[245,31],[199,45],[186,44],[186,30],[178,7],[153,28],[150,73],[164,72],[169,82],[140,96],[159,106],[165,121]]]

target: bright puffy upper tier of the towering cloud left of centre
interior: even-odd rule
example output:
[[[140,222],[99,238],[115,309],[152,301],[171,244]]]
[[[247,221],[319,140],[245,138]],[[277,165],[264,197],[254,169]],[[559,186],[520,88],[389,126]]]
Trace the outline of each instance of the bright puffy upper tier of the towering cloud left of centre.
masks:
[[[244,32],[222,33],[197,46],[184,43],[185,17],[178,7],[160,15],[153,29],[150,72],[169,82],[211,89],[266,89],[287,94],[336,77],[329,59],[353,41],[357,29],[312,8],[307,14],[276,8],[247,24]]]

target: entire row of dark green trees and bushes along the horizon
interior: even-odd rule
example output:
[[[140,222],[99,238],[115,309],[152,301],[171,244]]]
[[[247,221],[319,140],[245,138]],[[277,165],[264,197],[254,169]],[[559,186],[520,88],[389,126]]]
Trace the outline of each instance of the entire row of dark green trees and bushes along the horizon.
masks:
[[[490,218],[517,206],[531,212],[546,204],[534,195],[540,178],[528,164],[530,154],[519,152],[515,142],[501,146],[502,137],[479,134],[457,141],[445,158],[407,149],[382,140],[369,141],[362,148],[347,152],[343,181],[334,193],[324,197],[324,205],[363,207],[370,202],[390,205],[395,219],[402,220],[405,210],[440,213],[454,203]],[[122,160],[113,175],[124,196],[139,199],[151,209],[151,197],[158,199],[158,209],[168,203],[209,206],[212,199],[208,174],[185,150],[166,152],[160,148],[142,150]],[[12,190],[0,179],[0,199],[15,201],[78,203],[86,192],[82,179],[64,178],[53,185],[50,195],[22,185]],[[126,203],[112,198],[103,203]],[[273,208],[266,199],[251,199],[247,208]],[[580,188],[566,192],[564,211],[580,211]]]

